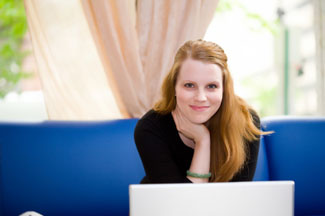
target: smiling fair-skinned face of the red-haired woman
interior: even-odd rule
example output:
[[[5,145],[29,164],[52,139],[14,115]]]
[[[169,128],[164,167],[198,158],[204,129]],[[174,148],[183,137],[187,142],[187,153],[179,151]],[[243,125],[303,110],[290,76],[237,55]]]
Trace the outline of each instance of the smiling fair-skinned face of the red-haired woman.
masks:
[[[175,86],[176,109],[196,124],[207,122],[222,102],[222,70],[216,64],[186,59]]]

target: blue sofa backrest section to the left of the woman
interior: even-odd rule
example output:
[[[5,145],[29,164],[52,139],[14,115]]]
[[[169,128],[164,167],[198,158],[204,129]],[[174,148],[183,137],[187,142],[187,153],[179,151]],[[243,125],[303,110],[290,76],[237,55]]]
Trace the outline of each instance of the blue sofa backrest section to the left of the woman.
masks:
[[[136,122],[0,123],[0,215],[128,215]]]

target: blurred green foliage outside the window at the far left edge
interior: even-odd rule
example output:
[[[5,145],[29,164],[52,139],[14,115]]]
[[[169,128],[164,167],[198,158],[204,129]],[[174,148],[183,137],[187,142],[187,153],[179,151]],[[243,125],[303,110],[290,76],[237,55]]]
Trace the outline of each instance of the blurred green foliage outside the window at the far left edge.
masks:
[[[0,98],[18,90],[19,81],[29,76],[22,71],[28,54],[21,49],[26,30],[23,0],[0,0]]]

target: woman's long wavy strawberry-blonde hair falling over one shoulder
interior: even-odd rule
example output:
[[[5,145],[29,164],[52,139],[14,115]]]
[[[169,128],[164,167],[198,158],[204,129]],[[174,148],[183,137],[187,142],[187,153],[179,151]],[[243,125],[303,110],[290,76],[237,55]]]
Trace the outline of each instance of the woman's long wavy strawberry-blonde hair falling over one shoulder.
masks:
[[[188,59],[217,64],[222,69],[223,99],[218,111],[209,119],[211,136],[210,182],[225,182],[243,167],[249,141],[257,140],[262,132],[254,124],[250,108],[234,93],[233,80],[228,70],[224,50],[213,42],[204,40],[187,41],[175,56],[174,64],[162,84],[162,98],[154,110],[161,114],[176,108],[175,85],[182,63]]]

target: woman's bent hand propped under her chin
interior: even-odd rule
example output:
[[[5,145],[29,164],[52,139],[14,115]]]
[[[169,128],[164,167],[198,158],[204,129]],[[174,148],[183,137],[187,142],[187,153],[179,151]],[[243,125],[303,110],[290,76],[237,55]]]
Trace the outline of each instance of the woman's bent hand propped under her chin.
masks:
[[[198,143],[210,143],[210,132],[204,124],[192,123],[182,113],[178,107],[172,111],[176,128],[179,133],[185,137],[192,139],[196,144]]]

